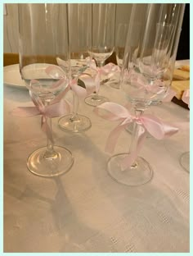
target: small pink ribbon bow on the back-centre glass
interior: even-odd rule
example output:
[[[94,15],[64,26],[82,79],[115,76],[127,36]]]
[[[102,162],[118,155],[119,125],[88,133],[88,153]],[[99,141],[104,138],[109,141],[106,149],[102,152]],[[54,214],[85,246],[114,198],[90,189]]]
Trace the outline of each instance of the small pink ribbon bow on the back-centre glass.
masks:
[[[113,63],[108,63],[105,66],[97,67],[96,62],[94,60],[92,60],[89,62],[89,66],[93,71],[96,71],[96,75],[95,75],[95,79],[94,79],[96,93],[100,89],[101,75],[110,76],[110,75],[113,75],[114,72],[119,71],[119,66],[114,65]]]

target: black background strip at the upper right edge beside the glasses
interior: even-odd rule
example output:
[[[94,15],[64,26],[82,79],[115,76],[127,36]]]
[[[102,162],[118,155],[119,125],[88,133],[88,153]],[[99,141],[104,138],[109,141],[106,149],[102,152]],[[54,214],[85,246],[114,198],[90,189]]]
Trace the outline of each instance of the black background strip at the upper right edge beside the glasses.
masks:
[[[182,32],[177,48],[177,60],[190,59],[190,4],[186,3],[182,21]]]

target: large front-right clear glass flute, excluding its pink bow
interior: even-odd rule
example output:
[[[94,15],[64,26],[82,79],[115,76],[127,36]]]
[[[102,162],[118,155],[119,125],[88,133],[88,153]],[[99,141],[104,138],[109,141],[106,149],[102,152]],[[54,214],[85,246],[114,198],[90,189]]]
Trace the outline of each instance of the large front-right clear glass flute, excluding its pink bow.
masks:
[[[168,6],[170,4],[132,5],[120,84],[137,118],[152,101],[164,98],[172,81],[173,33],[182,24],[177,23],[179,16],[174,23],[166,23]],[[180,6],[184,7],[183,4]],[[140,123],[135,123],[129,152],[114,155],[108,162],[110,176],[121,184],[143,185],[153,177],[150,163],[139,156],[124,171],[120,165],[120,159],[136,152],[137,138],[143,129]]]

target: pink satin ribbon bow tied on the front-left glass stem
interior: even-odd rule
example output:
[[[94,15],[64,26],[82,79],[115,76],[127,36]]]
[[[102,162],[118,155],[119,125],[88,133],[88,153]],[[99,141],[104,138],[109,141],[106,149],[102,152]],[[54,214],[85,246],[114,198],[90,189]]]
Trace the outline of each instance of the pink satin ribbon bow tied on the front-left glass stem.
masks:
[[[50,126],[47,124],[47,118],[52,117],[61,117],[70,113],[70,105],[62,99],[67,90],[58,94],[56,98],[54,98],[49,105],[45,106],[43,101],[38,96],[35,96],[31,90],[29,90],[29,95],[35,105],[35,107],[16,107],[12,114],[17,117],[34,117],[38,115],[42,115],[41,119],[41,127],[42,130],[47,134],[47,138],[51,140],[53,143],[52,130]]]

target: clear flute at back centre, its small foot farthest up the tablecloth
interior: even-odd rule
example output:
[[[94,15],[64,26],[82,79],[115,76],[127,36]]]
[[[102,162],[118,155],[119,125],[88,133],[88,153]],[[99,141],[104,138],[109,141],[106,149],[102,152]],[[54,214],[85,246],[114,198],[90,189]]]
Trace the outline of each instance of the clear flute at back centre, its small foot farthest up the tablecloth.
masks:
[[[96,60],[99,68],[105,65],[105,60],[114,52],[116,5],[112,3],[92,3],[92,48],[89,53]],[[85,98],[85,103],[97,106],[108,101],[108,98],[96,94]]]

